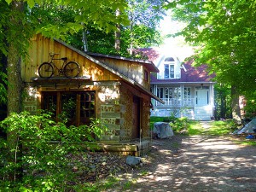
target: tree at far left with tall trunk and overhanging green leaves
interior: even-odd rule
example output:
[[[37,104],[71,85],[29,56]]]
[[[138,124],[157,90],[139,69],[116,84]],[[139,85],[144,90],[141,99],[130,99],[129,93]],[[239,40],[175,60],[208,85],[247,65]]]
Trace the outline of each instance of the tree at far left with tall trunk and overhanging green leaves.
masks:
[[[20,73],[21,60],[25,58],[29,40],[33,34],[42,32],[44,36],[65,39],[67,32],[73,34],[83,28],[84,23],[93,22],[96,26],[110,32],[115,29],[115,23],[125,21],[125,15],[116,17],[113,13],[116,9],[125,9],[123,0],[72,0],[64,1],[43,1],[43,0],[1,0],[0,25],[0,49],[7,55],[7,107],[10,113],[21,112],[22,80]],[[58,20],[45,20],[47,15],[33,15],[32,9],[44,5],[55,7],[49,15],[55,15],[56,9],[70,7],[73,10],[73,20],[61,22]],[[4,13],[4,14],[3,14]],[[16,131],[8,131],[7,139],[9,146],[9,159],[16,161],[15,143],[18,141]],[[15,150],[14,150],[15,149]],[[13,178],[15,180],[15,177]]]

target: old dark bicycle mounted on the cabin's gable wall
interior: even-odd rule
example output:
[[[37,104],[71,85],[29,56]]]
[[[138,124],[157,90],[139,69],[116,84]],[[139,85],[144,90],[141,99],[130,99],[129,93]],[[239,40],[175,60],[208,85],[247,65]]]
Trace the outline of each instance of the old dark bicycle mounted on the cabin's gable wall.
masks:
[[[67,62],[67,57],[62,57],[59,59],[55,59],[54,56],[59,55],[56,53],[49,53],[49,61],[48,62],[43,62],[39,68],[38,68],[38,73],[41,78],[51,78],[53,74],[55,73],[55,70],[58,71],[58,75],[64,74],[67,78],[75,78],[79,75],[80,73],[80,66],[77,62],[75,61],[69,61]],[[61,68],[58,68],[54,60],[62,60],[62,66]]]

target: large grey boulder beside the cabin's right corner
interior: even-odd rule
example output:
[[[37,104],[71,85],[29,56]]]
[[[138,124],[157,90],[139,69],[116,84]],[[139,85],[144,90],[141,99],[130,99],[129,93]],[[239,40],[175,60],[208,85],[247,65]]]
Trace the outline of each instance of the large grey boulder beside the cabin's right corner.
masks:
[[[166,122],[154,123],[153,134],[156,134],[158,138],[167,138],[174,135],[171,126]]]

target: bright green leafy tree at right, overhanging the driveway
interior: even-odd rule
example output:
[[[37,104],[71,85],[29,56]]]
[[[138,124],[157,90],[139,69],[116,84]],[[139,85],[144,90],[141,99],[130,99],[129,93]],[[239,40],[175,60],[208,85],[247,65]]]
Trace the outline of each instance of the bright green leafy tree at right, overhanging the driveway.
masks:
[[[233,117],[237,96],[252,95],[256,90],[256,28],[254,1],[176,1],[168,3],[173,16],[188,25],[182,34],[197,46],[195,62],[207,63],[217,81],[230,84]]]

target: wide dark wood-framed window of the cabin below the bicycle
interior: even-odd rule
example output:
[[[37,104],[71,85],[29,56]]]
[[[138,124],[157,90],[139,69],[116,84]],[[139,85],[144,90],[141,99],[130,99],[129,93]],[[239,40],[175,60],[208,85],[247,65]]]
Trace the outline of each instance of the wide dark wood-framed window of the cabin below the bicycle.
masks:
[[[56,121],[67,125],[90,125],[95,118],[95,91],[43,92],[42,109],[54,113]]]

